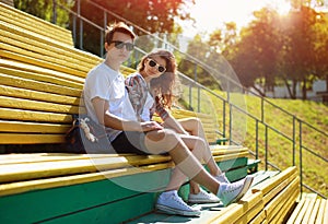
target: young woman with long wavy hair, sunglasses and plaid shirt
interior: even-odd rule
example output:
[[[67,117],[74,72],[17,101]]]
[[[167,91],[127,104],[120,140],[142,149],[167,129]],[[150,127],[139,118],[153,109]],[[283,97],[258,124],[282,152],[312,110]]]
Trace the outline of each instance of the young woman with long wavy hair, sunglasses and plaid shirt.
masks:
[[[138,119],[140,121],[150,121],[153,114],[156,113],[164,121],[162,125],[179,133],[184,143],[200,162],[204,162],[208,165],[210,174],[216,180],[229,184],[227,178],[212,157],[201,121],[198,118],[176,120],[168,113],[173,104],[175,80],[176,61],[169,51],[156,49],[141,59],[138,72],[126,79],[129,98]],[[159,197],[157,209],[171,212],[172,201],[185,203],[177,196],[177,190],[185,180],[186,176],[178,168],[175,168],[166,190]],[[169,196],[171,200],[166,200]],[[218,202],[219,199],[214,194],[202,190],[195,181],[190,181],[188,201],[207,203]],[[187,204],[185,205],[188,207]]]

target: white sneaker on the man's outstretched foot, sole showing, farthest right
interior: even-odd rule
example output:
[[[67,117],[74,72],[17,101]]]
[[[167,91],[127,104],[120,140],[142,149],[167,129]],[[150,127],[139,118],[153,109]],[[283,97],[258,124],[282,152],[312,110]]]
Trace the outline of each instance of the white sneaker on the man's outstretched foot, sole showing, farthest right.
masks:
[[[221,184],[218,197],[224,207],[238,201],[250,188],[254,177],[247,176],[245,179],[233,184]]]

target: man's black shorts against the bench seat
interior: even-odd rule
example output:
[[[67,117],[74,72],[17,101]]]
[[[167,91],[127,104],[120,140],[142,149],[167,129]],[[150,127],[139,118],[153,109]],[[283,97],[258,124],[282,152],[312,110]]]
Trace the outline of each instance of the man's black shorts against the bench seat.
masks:
[[[136,153],[139,155],[150,155],[144,145],[143,132],[122,131],[112,142],[112,146],[117,153]]]

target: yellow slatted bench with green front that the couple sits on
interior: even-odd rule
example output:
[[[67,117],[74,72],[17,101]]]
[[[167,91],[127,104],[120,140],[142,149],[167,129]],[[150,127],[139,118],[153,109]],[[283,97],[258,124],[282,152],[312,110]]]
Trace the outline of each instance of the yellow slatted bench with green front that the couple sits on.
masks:
[[[7,15],[13,16],[12,20],[8,20]],[[23,22],[24,20],[27,22]],[[55,33],[58,38],[52,36]],[[44,211],[34,217],[28,216],[28,208],[21,214],[26,215],[24,221],[59,219],[71,213],[82,215],[89,207],[101,210],[112,203],[113,207],[121,203],[125,205],[118,207],[128,208],[126,203],[130,205],[129,201],[134,198],[140,199],[131,202],[132,205],[136,204],[131,210],[136,207],[142,209],[136,210],[133,215],[149,212],[153,207],[154,194],[125,192],[119,188],[119,196],[121,191],[125,193],[117,198],[110,192],[112,188],[117,190],[115,185],[110,185],[108,189],[102,188],[106,197],[99,197],[97,202],[90,199],[81,204],[70,198],[70,189],[78,189],[74,192],[82,193],[87,188],[85,186],[99,189],[107,185],[105,180],[119,178],[137,185],[142,175],[150,181],[147,190],[156,192],[166,186],[173,164],[171,157],[164,155],[58,153],[58,149],[65,143],[66,132],[72,125],[72,115],[83,110],[80,101],[84,78],[91,68],[103,60],[75,49],[67,33],[69,32],[0,3],[0,152],[7,153],[0,154],[0,203],[24,203],[25,197],[42,197],[46,192],[49,192],[47,197],[52,197],[51,192],[62,189],[67,190],[67,200],[73,205],[66,209],[54,208],[54,212]],[[128,74],[133,70],[121,68],[121,71]],[[187,110],[174,110],[173,114],[177,118],[200,118],[208,140],[215,141],[216,135],[212,132],[215,126],[208,115]],[[245,158],[247,164],[246,148],[212,145],[212,152],[216,162]],[[236,166],[236,174],[239,174],[238,170],[244,172],[239,166],[245,165]],[[241,178],[244,173],[241,173]],[[142,184],[144,182],[139,182]],[[97,197],[92,193],[90,196]],[[65,203],[66,198],[51,200]],[[144,200],[149,203],[144,204]],[[38,200],[33,203],[35,204],[31,209],[43,209],[42,204],[37,204]],[[56,207],[56,203],[52,205]],[[5,210],[1,210],[0,222],[13,222],[16,219],[12,215],[17,212],[15,209],[16,207],[7,205]],[[59,212],[58,217],[55,211]],[[117,214],[115,219],[122,216],[132,217]],[[19,223],[19,220],[15,222]]]

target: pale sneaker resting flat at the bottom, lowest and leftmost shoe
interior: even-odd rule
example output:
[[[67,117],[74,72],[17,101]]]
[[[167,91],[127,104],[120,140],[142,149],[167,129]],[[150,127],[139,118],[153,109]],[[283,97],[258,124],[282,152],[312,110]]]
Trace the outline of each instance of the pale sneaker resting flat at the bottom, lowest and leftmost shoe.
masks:
[[[189,207],[177,191],[168,191],[160,194],[156,209],[167,214],[178,214],[184,216],[200,216],[200,210]]]

